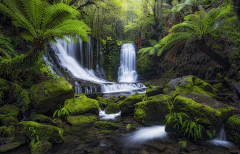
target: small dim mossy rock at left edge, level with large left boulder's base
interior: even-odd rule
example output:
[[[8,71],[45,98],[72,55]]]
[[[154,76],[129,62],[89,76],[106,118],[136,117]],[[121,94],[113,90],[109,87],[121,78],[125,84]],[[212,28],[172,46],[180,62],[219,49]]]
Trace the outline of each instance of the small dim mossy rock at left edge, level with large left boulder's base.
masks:
[[[4,105],[0,108],[0,114],[5,116],[18,116],[19,108],[12,104]]]

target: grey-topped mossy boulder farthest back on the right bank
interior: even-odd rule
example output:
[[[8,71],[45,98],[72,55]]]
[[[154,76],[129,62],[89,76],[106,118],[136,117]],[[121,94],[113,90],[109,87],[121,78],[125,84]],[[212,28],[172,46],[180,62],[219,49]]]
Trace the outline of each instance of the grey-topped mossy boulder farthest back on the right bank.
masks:
[[[204,82],[203,80],[192,75],[173,79],[166,84],[163,89],[164,94],[172,97],[189,92],[199,93],[211,98],[216,98],[214,88],[209,83]]]

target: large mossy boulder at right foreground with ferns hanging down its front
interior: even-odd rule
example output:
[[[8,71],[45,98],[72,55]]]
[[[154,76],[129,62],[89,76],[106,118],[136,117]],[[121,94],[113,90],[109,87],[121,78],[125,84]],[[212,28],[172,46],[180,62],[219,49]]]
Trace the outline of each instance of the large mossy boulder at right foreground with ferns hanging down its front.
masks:
[[[195,94],[193,94],[193,96],[200,97],[200,95]],[[188,97],[190,97],[190,95],[188,95]],[[199,101],[201,98],[196,98],[195,100]],[[202,100],[207,100],[206,96],[203,96]],[[209,98],[209,100],[211,100],[211,98]],[[171,112],[184,115],[182,116],[183,122],[186,120],[196,122],[197,119],[197,123],[201,124],[205,129],[205,131],[202,132],[201,140],[209,140],[211,138],[207,135],[206,130],[212,134],[214,134],[214,132],[217,134],[221,129],[222,123],[228,119],[229,116],[233,115],[233,107],[220,108],[218,103],[215,105],[207,104],[206,102],[197,103],[193,99],[187,98],[186,95],[182,95],[175,97]],[[174,122],[169,123],[166,126],[166,132],[184,136],[181,128],[178,129],[174,127],[174,125]]]

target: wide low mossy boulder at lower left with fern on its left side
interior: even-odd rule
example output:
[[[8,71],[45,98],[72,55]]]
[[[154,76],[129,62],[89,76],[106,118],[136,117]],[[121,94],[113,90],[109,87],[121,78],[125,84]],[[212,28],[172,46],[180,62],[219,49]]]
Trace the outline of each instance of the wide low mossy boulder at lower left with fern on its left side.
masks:
[[[32,138],[32,130],[36,131],[40,140],[48,140],[51,143],[62,143],[63,139],[63,130],[61,128],[43,125],[33,121],[22,121],[18,123],[18,127],[29,137]],[[32,129],[29,129],[32,128]]]

